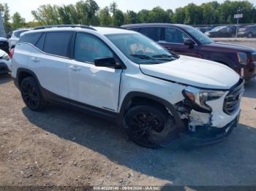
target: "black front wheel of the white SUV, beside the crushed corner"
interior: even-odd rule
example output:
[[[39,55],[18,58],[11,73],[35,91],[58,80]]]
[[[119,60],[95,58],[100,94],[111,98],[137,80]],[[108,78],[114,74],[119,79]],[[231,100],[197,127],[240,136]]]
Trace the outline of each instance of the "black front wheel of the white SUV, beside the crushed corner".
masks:
[[[134,106],[124,122],[129,139],[141,147],[158,148],[178,137],[175,120],[159,106]]]

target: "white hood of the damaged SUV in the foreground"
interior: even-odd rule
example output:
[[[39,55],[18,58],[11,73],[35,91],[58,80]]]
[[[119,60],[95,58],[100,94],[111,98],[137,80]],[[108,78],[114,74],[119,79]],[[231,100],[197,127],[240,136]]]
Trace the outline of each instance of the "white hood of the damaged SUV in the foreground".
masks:
[[[140,64],[140,70],[151,77],[207,89],[227,90],[240,78],[225,65],[184,55],[167,63]]]

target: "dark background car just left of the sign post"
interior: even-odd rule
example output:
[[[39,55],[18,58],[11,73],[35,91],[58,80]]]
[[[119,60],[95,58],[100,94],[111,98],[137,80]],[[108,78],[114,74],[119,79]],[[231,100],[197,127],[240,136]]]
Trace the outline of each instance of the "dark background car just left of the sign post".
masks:
[[[236,26],[217,26],[211,31],[206,32],[209,37],[235,37]]]

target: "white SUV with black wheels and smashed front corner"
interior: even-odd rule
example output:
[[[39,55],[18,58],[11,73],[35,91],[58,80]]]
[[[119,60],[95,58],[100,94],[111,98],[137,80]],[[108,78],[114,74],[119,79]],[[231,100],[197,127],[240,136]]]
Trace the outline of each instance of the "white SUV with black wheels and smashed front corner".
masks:
[[[135,31],[46,26],[24,33],[12,77],[29,109],[64,104],[114,120],[143,147],[212,144],[236,126],[244,80]]]

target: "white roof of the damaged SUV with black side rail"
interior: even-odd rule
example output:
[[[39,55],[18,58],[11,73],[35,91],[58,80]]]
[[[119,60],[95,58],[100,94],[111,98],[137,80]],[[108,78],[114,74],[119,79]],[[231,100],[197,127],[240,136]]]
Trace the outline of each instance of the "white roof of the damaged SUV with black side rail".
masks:
[[[50,32],[50,31],[94,31],[98,34],[135,34],[135,31],[129,31],[125,28],[115,28],[115,27],[100,27],[91,26],[90,28],[80,28],[80,27],[52,27],[52,28],[39,28],[37,30],[26,31],[23,34],[31,34],[37,32]]]

